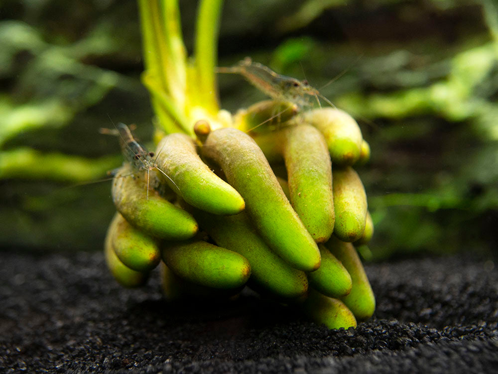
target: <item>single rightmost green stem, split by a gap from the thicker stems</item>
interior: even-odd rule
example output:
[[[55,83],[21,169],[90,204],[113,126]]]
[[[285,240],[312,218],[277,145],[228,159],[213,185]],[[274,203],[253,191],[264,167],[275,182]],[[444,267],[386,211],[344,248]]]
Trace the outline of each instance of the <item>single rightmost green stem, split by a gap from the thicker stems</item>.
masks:
[[[201,0],[196,26],[195,75],[198,95],[201,105],[213,115],[219,110],[215,67],[222,5],[223,0]]]

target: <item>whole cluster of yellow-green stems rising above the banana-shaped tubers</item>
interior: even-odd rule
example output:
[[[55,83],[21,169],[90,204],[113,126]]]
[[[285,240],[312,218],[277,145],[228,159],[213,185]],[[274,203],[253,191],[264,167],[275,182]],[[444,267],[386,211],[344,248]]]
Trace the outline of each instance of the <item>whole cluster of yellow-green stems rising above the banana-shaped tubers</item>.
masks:
[[[189,64],[178,3],[179,0],[138,0],[145,60],[142,82],[152,96],[152,107],[162,129],[193,135],[195,120],[216,118],[219,111],[215,66],[223,0],[200,1],[195,59]]]

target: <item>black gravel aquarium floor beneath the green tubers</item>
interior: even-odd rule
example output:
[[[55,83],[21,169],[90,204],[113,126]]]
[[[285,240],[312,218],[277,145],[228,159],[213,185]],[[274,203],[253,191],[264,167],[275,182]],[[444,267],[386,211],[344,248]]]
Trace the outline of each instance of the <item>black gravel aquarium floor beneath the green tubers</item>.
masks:
[[[498,271],[468,258],[367,267],[375,316],[329,331],[247,293],[173,307],[100,253],[0,260],[0,372],[497,373]]]

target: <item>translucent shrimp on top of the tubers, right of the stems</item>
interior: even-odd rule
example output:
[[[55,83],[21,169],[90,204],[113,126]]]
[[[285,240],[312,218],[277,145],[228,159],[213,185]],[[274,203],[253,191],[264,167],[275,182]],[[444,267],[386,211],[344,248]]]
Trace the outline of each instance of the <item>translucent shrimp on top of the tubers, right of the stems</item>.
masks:
[[[297,80],[286,75],[275,73],[269,67],[253,62],[250,57],[232,67],[219,67],[219,73],[235,73],[241,74],[253,86],[264,92],[274,100],[289,101],[296,104],[298,107],[311,106],[307,97],[314,96],[318,106],[320,105],[321,97],[330,106],[335,107],[326,97],[320,94],[316,88],[310,86],[307,80]]]

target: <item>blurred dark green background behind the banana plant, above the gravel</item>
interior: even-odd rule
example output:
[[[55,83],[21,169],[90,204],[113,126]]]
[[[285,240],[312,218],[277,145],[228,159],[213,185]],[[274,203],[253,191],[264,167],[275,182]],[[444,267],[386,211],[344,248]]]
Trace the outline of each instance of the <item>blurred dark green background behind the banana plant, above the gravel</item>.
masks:
[[[197,1],[182,0],[188,50]],[[498,5],[476,0],[226,1],[219,65],[245,56],[360,123],[375,233],[367,259],[498,246]],[[0,249],[101,250],[121,164],[98,129],[151,139],[135,1],[0,5]],[[220,76],[223,107],[264,96]],[[78,185],[82,184],[82,185]]]

